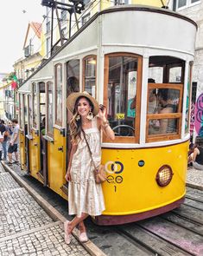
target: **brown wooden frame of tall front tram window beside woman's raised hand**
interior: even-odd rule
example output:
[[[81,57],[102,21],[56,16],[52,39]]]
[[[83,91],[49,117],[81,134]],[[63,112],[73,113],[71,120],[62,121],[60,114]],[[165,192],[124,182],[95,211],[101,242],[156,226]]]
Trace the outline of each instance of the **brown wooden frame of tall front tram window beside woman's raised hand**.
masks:
[[[135,117],[135,135],[134,136],[116,136],[114,143],[138,143],[140,139],[140,113],[141,113],[141,92],[142,92],[142,75],[143,75],[143,56],[133,53],[117,52],[105,55],[105,79],[104,79],[104,104],[107,106],[108,98],[108,81],[109,81],[109,58],[119,56],[130,56],[137,59],[137,76],[136,76],[136,117]],[[103,136],[103,142],[112,142]]]

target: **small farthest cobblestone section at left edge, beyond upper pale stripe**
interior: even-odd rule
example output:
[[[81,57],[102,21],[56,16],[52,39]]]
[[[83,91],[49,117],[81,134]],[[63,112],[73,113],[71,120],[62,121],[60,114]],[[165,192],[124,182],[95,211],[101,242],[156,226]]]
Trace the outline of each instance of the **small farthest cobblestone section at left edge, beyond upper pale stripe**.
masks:
[[[0,168],[1,169],[1,168]],[[20,187],[9,173],[0,173],[0,193]]]

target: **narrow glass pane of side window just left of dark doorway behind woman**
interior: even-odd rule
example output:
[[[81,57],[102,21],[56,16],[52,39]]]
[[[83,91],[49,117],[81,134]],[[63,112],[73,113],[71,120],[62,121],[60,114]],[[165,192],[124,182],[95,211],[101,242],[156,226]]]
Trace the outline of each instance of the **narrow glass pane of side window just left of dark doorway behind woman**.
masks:
[[[62,65],[55,65],[55,123],[62,126]]]

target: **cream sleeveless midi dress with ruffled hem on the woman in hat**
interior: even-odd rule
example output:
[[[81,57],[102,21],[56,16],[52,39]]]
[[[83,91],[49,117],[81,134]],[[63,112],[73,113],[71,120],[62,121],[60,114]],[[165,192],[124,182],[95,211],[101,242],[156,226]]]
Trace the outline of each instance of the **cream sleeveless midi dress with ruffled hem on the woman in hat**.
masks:
[[[92,151],[95,165],[101,162],[101,138],[97,127],[97,118],[92,120],[92,128],[84,130]],[[72,181],[68,182],[68,212],[70,215],[88,213],[92,216],[101,215],[105,210],[105,200],[101,184],[96,184],[93,174],[94,167],[86,146],[84,135],[81,135],[76,152],[73,154],[70,170]]]

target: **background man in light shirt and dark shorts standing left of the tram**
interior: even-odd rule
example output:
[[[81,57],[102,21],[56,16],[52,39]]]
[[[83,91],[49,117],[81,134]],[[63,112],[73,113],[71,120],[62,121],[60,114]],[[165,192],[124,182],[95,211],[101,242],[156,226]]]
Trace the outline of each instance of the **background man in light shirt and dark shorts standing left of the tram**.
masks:
[[[7,162],[8,165],[12,165],[12,154],[15,153],[16,161],[14,163],[18,163],[18,152],[17,147],[19,143],[19,125],[16,118],[12,119],[12,125],[13,125],[13,133],[10,137],[10,146],[8,148],[8,155],[9,155],[9,161]]]

